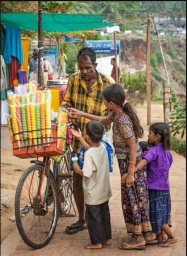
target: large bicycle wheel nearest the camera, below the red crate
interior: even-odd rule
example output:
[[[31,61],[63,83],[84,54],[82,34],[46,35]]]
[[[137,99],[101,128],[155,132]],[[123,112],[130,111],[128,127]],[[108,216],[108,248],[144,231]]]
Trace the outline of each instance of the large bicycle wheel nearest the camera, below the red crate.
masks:
[[[49,174],[49,192],[42,206],[39,196],[44,166],[36,164],[25,170],[15,194],[15,220],[23,241],[34,249],[44,247],[55,233],[58,220],[58,197],[55,179]],[[45,197],[47,177],[42,182]]]

